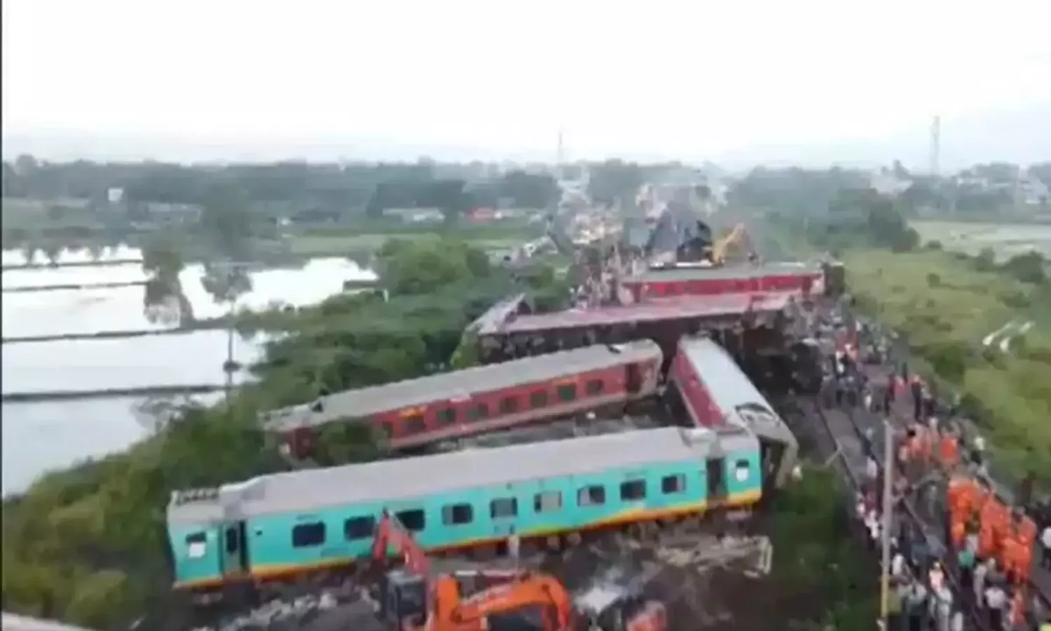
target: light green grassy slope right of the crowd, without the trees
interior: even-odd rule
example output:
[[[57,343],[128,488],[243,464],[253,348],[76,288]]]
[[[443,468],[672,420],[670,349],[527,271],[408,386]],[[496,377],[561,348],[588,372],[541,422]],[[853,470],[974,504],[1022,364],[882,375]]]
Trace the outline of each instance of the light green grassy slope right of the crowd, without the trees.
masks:
[[[994,464],[1051,486],[1051,290],[943,251],[844,253],[863,307],[901,331],[941,380],[966,393]],[[1035,326],[1010,352],[982,340],[1012,319]]]

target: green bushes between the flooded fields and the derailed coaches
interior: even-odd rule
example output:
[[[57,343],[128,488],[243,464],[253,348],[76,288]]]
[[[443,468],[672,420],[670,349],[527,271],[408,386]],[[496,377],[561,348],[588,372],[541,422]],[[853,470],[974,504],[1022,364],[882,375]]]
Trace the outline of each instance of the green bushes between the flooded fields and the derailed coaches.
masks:
[[[167,601],[169,493],[281,470],[277,449],[257,430],[260,410],[445,370],[465,327],[497,298],[523,288],[549,301],[566,296],[555,274],[519,286],[483,251],[455,240],[388,242],[377,267],[387,302],[371,292],[336,296],[247,323],[287,332],[253,368],[257,384],[215,407],[187,408],[127,452],[48,474],[5,501],[3,609],[96,628],[149,612],[159,619],[144,628],[179,628],[180,610]],[[377,455],[360,431],[336,432],[326,445],[326,463]]]

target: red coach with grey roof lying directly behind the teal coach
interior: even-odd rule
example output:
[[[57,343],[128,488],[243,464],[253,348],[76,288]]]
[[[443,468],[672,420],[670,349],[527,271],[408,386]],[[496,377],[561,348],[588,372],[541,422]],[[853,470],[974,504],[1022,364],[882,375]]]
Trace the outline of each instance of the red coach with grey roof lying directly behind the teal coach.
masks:
[[[337,422],[369,424],[392,449],[421,447],[651,396],[662,362],[648,340],[589,346],[329,394],[264,427],[298,457]]]

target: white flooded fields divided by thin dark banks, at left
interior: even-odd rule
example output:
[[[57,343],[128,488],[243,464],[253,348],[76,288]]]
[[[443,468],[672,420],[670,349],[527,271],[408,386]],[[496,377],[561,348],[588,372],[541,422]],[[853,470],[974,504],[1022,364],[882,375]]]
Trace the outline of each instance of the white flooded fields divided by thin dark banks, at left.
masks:
[[[109,256],[128,259],[139,257],[140,252],[124,248]],[[63,253],[59,260],[85,259],[86,255],[67,258]],[[20,251],[3,255],[4,263],[24,260]],[[200,266],[189,266],[181,277],[195,314],[209,318],[225,313],[227,307],[217,304],[201,285],[202,274]],[[251,276],[253,290],[239,301],[239,306],[246,308],[265,308],[274,303],[313,304],[339,292],[344,281],[374,278],[343,259],[318,259],[302,269],[273,269]],[[141,278],[144,277],[138,265],[9,270],[3,272],[3,286]],[[2,311],[7,338],[166,326],[145,318],[142,287],[7,293],[3,297]],[[234,359],[242,364],[256,360],[262,342],[235,335]],[[225,380],[226,345],[227,333],[221,330],[127,340],[5,344],[0,381],[4,392],[220,384]],[[244,379],[246,374],[238,376]],[[0,446],[3,494],[24,489],[44,471],[119,451],[140,440],[150,427],[148,414],[138,410],[142,403],[135,399],[102,399],[3,404]]]

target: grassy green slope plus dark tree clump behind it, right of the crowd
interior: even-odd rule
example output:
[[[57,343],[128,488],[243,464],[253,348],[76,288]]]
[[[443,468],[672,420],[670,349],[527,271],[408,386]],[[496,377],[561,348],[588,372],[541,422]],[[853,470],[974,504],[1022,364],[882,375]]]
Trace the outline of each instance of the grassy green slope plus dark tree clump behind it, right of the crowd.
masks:
[[[1032,474],[1051,487],[1051,286],[1035,252],[1000,264],[946,252],[921,238],[900,200],[868,189],[836,194],[823,217],[781,217],[786,231],[811,247],[839,253],[863,310],[903,334],[913,369],[963,395],[964,410],[988,435],[1005,483]],[[983,339],[1012,320],[1035,326],[1009,351]]]

